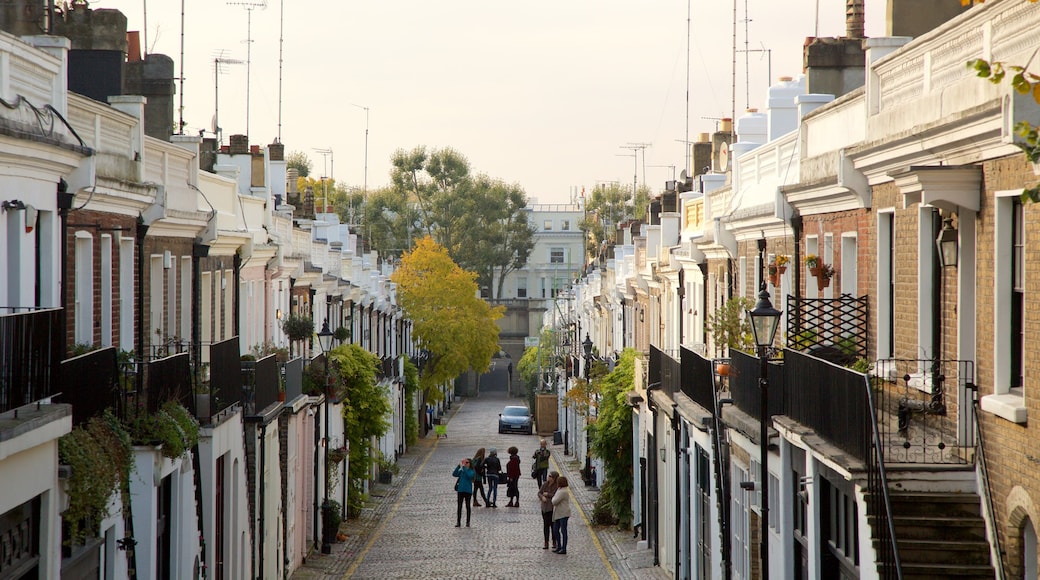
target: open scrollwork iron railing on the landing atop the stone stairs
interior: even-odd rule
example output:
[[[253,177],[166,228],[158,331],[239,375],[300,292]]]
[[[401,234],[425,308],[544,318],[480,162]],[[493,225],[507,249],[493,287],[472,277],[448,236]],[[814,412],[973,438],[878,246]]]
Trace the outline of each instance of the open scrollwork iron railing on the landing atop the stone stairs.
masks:
[[[872,388],[885,462],[972,463],[973,385],[974,364],[970,361],[878,361]]]

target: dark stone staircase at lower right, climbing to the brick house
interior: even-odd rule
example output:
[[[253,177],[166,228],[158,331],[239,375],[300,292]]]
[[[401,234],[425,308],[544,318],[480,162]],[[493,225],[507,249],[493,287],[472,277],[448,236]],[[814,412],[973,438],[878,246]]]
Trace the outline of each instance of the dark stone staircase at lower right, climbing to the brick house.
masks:
[[[889,492],[903,578],[995,577],[981,499],[963,492]],[[877,529],[870,501],[870,529]],[[875,533],[875,548],[878,539]],[[884,564],[878,574],[886,576]]]

